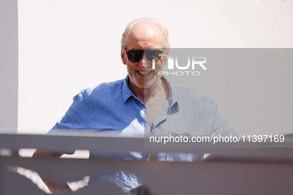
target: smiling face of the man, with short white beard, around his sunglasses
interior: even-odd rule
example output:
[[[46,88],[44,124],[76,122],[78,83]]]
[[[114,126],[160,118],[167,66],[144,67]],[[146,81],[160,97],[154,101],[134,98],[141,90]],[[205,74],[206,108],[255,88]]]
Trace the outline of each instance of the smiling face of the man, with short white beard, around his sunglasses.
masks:
[[[144,50],[145,48],[163,48],[163,37],[160,29],[153,23],[137,24],[127,39],[126,51]],[[130,85],[139,88],[149,88],[160,81],[158,72],[163,70],[163,65],[156,63],[156,68],[152,68],[152,61],[145,58],[145,55],[139,62],[131,62],[125,53],[121,51],[121,57],[124,64],[127,65]]]

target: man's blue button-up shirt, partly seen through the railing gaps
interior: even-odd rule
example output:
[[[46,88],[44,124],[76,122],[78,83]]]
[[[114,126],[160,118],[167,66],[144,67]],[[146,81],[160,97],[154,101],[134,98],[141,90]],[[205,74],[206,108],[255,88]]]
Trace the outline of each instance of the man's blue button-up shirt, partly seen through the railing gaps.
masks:
[[[186,133],[190,136],[240,135],[209,98],[189,89],[173,86],[166,78],[164,79],[168,83],[169,97],[152,125],[145,105],[128,88],[127,75],[123,80],[82,90],[73,98],[72,105],[51,131],[113,130],[123,136],[144,136],[145,133],[151,136],[186,135]],[[131,151],[127,154],[91,152],[90,157],[146,160],[148,155]],[[158,154],[160,161],[196,161],[202,157],[203,154]],[[115,177],[112,180],[122,186],[124,191],[142,184],[141,180],[122,171],[109,174],[105,178],[110,175]]]

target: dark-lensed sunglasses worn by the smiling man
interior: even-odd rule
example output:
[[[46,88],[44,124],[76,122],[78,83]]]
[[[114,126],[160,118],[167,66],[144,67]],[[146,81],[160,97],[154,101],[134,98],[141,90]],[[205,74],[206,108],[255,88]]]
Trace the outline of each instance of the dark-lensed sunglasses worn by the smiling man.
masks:
[[[143,53],[145,52],[145,56],[149,61],[152,61],[153,59],[156,59],[156,57],[159,56],[159,54],[162,54],[163,51],[161,50],[128,50],[126,51],[125,49],[125,53],[127,54],[127,58],[129,59],[129,61],[136,63],[139,62],[143,56]]]

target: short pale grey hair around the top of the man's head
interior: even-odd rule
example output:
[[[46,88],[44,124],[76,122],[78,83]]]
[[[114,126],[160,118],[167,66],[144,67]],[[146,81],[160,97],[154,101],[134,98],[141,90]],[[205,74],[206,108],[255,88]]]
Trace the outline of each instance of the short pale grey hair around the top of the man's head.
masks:
[[[169,33],[168,33],[168,30],[166,27],[164,27],[163,25],[161,25],[157,20],[155,19],[151,19],[151,18],[138,18],[138,19],[135,19],[133,20],[132,22],[130,22],[123,34],[122,34],[122,38],[121,38],[121,47],[122,48],[125,48],[126,47],[126,42],[127,42],[127,39],[128,39],[128,36],[132,30],[132,27],[138,23],[141,23],[141,22],[152,22],[154,24],[156,24],[161,32],[162,32],[162,35],[163,35],[163,47],[164,48],[169,48],[170,47],[170,44],[169,44]]]

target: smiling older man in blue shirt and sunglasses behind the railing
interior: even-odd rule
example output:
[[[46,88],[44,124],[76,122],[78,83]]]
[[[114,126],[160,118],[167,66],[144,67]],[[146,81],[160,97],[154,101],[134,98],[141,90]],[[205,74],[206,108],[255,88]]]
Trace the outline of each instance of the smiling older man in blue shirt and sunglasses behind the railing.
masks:
[[[163,69],[163,63],[157,62],[155,69],[152,68],[152,61],[144,49],[159,54],[168,48],[168,31],[156,21],[141,18],[129,23],[121,39],[121,59],[128,71],[126,78],[81,91],[51,132],[78,129],[112,130],[120,135],[142,136],[239,135],[209,98],[173,86],[165,77],[161,77],[158,72]],[[34,156],[60,157],[62,154],[57,151],[36,151]],[[91,152],[90,157],[146,160],[149,156],[140,152]],[[202,157],[202,154],[158,154],[158,160],[161,161],[195,161]],[[142,185],[141,180],[122,171],[106,177],[124,191]]]

